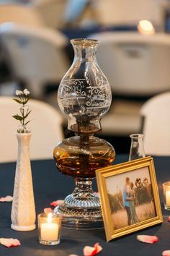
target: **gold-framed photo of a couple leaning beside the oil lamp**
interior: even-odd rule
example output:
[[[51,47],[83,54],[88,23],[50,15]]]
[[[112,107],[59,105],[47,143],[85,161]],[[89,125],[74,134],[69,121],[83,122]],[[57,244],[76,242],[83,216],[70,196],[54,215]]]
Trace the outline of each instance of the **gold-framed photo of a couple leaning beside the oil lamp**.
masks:
[[[107,242],[163,221],[153,158],[96,171]]]

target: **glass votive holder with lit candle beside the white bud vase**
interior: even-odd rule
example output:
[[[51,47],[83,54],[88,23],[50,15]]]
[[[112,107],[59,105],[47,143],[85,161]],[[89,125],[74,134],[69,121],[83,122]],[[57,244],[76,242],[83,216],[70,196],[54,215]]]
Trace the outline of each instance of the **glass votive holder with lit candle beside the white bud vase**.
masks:
[[[40,244],[55,245],[61,239],[61,216],[55,213],[40,213],[37,216]]]

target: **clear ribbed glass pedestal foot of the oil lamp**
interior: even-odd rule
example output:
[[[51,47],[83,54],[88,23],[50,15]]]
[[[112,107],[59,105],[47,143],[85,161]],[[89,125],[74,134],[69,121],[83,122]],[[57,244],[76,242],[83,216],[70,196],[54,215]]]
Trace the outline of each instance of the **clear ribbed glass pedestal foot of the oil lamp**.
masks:
[[[62,226],[68,229],[102,229],[103,219],[99,195],[93,191],[92,179],[76,178],[76,188],[55,208],[62,216]]]

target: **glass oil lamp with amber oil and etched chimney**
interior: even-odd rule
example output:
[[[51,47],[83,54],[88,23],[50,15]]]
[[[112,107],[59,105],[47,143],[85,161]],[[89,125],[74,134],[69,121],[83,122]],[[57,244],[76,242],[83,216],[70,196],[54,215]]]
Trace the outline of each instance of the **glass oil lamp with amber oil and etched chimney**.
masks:
[[[96,229],[103,226],[99,195],[92,189],[95,170],[110,166],[115,150],[107,141],[94,137],[109,110],[112,93],[96,60],[98,40],[73,39],[74,59],[58,88],[58,105],[75,136],[54,149],[58,171],[72,176],[76,187],[63,205],[55,208],[63,226]]]

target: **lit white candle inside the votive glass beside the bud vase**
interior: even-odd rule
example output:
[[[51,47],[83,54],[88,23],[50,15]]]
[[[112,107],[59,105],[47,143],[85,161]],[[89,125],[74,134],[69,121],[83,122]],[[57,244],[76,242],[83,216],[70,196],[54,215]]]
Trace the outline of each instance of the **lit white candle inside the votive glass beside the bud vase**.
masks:
[[[41,223],[40,236],[42,241],[58,240],[58,223],[52,222],[52,214],[48,214],[47,223]]]

